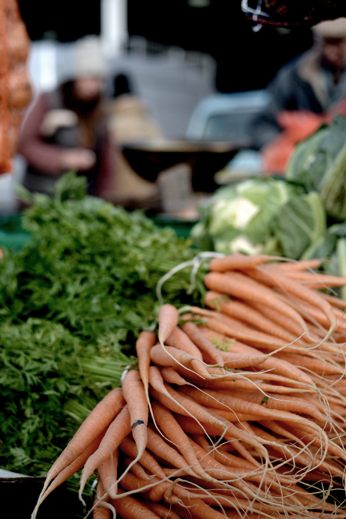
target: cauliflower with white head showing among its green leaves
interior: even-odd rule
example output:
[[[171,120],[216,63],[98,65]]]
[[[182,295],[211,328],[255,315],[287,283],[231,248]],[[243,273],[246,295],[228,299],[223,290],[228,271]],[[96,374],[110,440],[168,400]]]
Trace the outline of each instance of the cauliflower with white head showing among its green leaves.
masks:
[[[325,210],[317,193],[279,179],[254,179],[217,190],[191,236],[199,247],[230,254],[311,257],[323,242]]]

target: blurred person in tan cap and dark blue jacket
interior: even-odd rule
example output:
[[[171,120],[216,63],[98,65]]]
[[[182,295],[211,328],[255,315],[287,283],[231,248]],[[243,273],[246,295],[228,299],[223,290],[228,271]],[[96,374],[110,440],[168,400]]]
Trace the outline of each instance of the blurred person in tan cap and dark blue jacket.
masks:
[[[268,87],[271,101],[252,126],[258,149],[280,134],[281,111],[322,114],[346,96],[346,18],[321,22],[312,31],[311,49],[284,65]]]

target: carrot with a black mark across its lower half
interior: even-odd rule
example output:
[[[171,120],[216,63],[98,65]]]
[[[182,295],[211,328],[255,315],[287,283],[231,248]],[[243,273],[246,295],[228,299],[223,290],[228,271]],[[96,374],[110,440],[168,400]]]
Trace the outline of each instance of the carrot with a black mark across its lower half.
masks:
[[[135,462],[137,462],[141,458],[147,444],[149,417],[148,402],[143,382],[137,370],[129,371],[122,380],[122,393],[127,401],[133,439],[138,449],[138,454],[135,458]]]

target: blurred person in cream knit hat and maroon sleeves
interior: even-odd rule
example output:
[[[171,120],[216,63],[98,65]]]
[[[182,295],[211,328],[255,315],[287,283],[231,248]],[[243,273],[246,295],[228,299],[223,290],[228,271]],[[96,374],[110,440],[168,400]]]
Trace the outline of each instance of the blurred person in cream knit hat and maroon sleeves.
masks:
[[[27,161],[23,185],[31,192],[49,192],[68,170],[87,177],[92,195],[107,189],[112,160],[102,101],[105,72],[98,37],[81,38],[71,80],[29,108],[19,153]]]

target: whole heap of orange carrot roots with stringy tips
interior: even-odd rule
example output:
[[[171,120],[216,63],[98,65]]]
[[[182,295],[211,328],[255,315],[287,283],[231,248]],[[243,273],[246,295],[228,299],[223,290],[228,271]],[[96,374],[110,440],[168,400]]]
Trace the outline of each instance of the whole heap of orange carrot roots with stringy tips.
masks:
[[[275,259],[214,258],[210,309],[161,307],[158,340],[141,333],[139,370],[54,462],[33,518],[81,467],[81,500],[97,470],[94,519],[346,517],[328,500],[345,488],[346,302],[320,291],[346,279]]]

